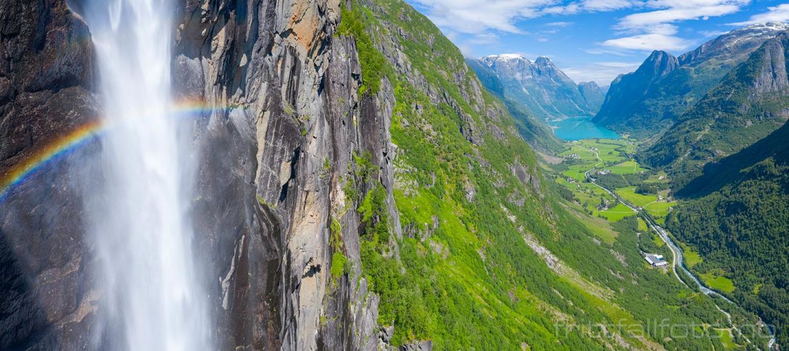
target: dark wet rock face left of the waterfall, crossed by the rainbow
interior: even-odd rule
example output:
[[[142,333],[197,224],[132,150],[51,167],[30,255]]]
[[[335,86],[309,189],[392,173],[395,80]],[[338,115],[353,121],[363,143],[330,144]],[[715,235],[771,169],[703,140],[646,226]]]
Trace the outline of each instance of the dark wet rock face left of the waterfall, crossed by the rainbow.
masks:
[[[89,37],[60,0],[0,2],[0,349],[90,340],[96,296],[77,181],[89,170],[72,165],[95,147],[67,152],[98,114]]]

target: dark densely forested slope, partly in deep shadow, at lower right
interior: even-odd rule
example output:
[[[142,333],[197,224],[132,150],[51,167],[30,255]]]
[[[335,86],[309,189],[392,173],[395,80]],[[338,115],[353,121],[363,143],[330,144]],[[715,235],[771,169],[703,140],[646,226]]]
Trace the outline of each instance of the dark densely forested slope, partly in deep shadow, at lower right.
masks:
[[[698,273],[731,278],[732,296],[789,342],[789,125],[725,159],[679,191],[667,220],[703,258]]]

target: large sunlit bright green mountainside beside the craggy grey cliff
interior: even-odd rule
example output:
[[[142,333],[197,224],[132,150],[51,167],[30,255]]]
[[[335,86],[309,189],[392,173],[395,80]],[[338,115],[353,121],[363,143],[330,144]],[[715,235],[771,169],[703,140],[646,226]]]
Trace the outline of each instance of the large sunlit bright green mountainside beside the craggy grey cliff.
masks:
[[[646,267],[634,219],[608,245],[567,213],[506,107],[426,17],[399,0],[353,3],[340,27],[357,38],[362,65],[386,58],[376,72],[386,73],[382,91],[386,80],[393,87],[402,237],[391,235],[382,189],[359,194],[357,207],[362,268],[380,296],[378,322],[394,326],[392,345],[722,349],[646,327],[667,319],[705,329],[724,316]],[[366,165],[357,155],[358,174],[375,173]]]

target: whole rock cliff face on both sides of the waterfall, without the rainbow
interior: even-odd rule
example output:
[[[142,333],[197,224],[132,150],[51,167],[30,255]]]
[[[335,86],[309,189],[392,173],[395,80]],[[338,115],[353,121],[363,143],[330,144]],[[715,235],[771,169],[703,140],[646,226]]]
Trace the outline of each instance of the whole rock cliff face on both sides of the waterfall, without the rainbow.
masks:
[[[359,96],[354,40],[333,35],[339,13],[337,0],[178,4],[174,93],[201,107],[188,136],[199,164],[192,211],[219,349],[378,345],[378,298],[356,278],[360,218],[346,211],[343,179],[353,154],[369,151],[378,177],[354,187],[383,185],[399,232],[394,95],[384,80],[376,95]],[[5,175],[94,120],[98,97],[88,28],[63,0],[0,0],[0,20]],[[99,345],[101,289],[80,199],[91,190],[80,179],[100,177],[84,162],[99,147],[48,163],[0,204],[0,349]],[[350,276],[331,278],[335,249],[353,263]]]

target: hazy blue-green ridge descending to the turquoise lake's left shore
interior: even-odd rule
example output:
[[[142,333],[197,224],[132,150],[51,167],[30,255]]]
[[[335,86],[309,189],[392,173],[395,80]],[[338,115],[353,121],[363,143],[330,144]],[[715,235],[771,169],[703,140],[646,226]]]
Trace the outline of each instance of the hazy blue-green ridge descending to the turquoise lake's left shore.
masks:
[[[515,119],[515,124],[518,125],[518,131],[532,147],[552,154],[562,150],[561,141],[556,138],[548,125],[537,121],[537,118],[534,118],[526,106],[505,97],[504,84],[501,83],[499,77],[496,77],[495,72],[490,67],[482,65],[473,58],[467,58],[466,64],[477,74],[477,78],[479,78],[482,85],[507,106],[507,110]]]

